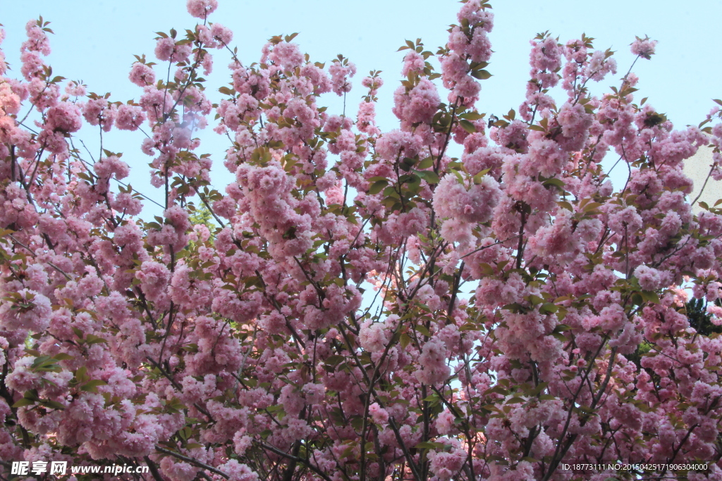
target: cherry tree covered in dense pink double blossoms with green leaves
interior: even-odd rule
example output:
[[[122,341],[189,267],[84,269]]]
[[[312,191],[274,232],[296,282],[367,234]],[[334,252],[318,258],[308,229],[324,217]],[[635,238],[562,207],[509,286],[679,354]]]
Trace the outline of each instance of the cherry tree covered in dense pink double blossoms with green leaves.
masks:
[[[591,94],[610,50],[542,34],[521,106],[485,115],[493,16],[468,0],[445,46],[401,48],[382,132],[378,72],[356,115],[331,113],[352,62],[279,35],[245,63],[216,6],[188,0],[199,22],[137,57],[128,102],[53,74],[43,20],[19,71],[0,53],[3,479],[21,460],[156,481],[721,479],[722,210],[695,215],[682,172],[712,146],[722,178],[719,107],[674,130],[631,68]],[[162,216],[123,183],[113,129],[143,136]]]

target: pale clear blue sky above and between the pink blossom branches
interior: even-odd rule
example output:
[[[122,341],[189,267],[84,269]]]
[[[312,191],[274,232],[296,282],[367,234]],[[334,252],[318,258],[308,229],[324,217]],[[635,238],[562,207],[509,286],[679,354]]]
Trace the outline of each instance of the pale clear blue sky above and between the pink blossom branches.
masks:
[[[2,48],[14,71],[19,69],[25,22],[43,15],[52,22],[56,34],[51,35],[53,53],[48,59],[54,74],[82,79],[90,92],[111,92],[111,100],[123,102],[137,99],[141,92],[127,79],[133,54],[152,57],[154,32],[168,32],[171,27],[183,31],[195,25],[195,19],[186,12],[185,0],[2,2],[0,22],[6,30]],[[238,45],[244,63],[257,61],[262,45],[272,35],[300,32],[295,41],[312,61],[329,61],[342,53],[355,62],[359,70],[355,85],[368,71],[383,71],[386,84],[380,90],[378,107],[382,130],[397,125],[391,105],[401,77],[403,53],[396,50],[404,40],[421,37],[427,48],[435,51],[445,43],[446,28],[456,22],[459,6],[456,1],[438,0],[219,0],[219,4],[209,19],[234,31],[233,43]],[[529,39],[546,30],[562,42],[584,32],[596,38],[596,48],[617,51],[619,71],[595,87],[600,93],[618,84],[632,63],[629,44],[635,35],[658,40],[656,56],[635,66],[640,76],[638,98],[649,97],[648,102],[679,127],[699,123],[713,106],[711,99],[722,97],[718,48],[721,1],[492,0],[492,5],[496,18],[490,38],[495,54],[488,70],[494,76],[482,84],[477,104],[481,112],[500,115],[518,107],[529,74]],[[228,61],[225,53],[216,53],[214,74],[209,77],[209,96],[214,101],[218,94],[210,92],[217,92],[217,87],[229,80],[225,69]],[[349,94],[349,112],[355,112],[363,93],[358,88]],[[329,105],[331,111],[340,110],[337,99],[326,97],[320,103]],[[92,144],[97,133],[88,132],[87,136]],[[214,181],[223,187],[230,180],[220,162],[227,141],[209,128],[201,140],[200,151],[212,153],[218,161]],[[147,185],[149,159],[139,151],[139,138],[117,134],[107,142],[111,151],[126,153],[123,159],[135,170],[131,179],[134,186],[152,195],[153,188]]]

